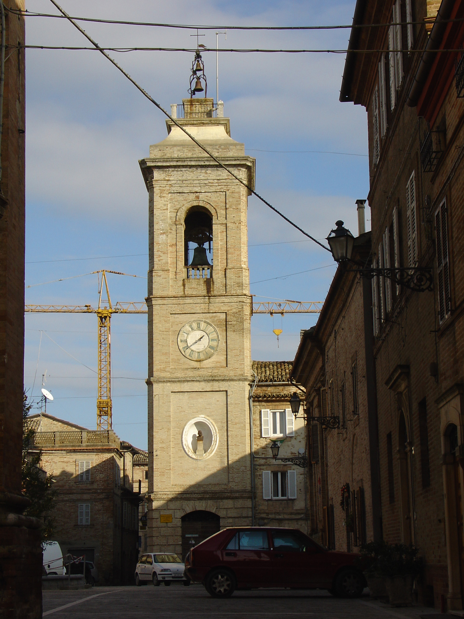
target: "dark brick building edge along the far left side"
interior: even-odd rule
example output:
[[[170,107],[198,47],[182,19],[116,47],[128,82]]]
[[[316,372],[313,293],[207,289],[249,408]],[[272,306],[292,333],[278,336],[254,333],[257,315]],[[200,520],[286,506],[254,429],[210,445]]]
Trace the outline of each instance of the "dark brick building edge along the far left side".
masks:
[[[24,45],[24,0],[5,3],[6,46]],[[0,615],[41,617],[38,526],[22,516],[22,399],[24,364],[25,54],[5,54],[0,183]],[[18,589],[19,578],[22,587]]]

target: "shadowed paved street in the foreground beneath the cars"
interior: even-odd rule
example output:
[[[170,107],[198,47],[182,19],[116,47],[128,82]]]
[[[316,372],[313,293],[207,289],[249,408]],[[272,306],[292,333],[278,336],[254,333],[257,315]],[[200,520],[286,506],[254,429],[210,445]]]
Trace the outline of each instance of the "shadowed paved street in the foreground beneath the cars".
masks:
[[[85,619],[103,617],[202,617],[205,619],[427,619],[437,617],[432,608],[390,608],[371,600],[339,600],[322,591],[236,592],[228,600],[212,599],[204,587],[95,587],[85,591],[45,591],[43,617]],[[443,616],[443,615],[442,615]]]

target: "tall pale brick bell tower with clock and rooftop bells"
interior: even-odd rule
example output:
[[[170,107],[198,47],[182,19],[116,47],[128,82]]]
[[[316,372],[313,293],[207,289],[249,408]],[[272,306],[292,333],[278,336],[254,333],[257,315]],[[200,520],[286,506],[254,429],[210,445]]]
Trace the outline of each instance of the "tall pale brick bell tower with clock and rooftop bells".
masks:
[[[178,120],[249,187],[255,160],[207,98],[200,53]],[[195,96],[204,92],[205,98]],[[226,526],[251,524],[249,191],[170,119],[140,161],[148,190],[150,552],[184,557]]]

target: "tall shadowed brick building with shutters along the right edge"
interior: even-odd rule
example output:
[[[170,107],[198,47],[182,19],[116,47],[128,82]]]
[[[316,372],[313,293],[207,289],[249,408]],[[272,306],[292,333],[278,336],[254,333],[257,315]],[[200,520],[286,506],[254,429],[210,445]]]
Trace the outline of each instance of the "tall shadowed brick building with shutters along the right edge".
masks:
[[[433,290],[374,279],[382,526],[426,567],[419,600],[463,608],[464,3],[358,0],[340,101],[369,135],[372,266],[430,269]],[[362,24],[386,24],[359,28]],[[358,54],[358,50],[385,50]],[[418,53],[419,52],[419,53]],[[410,271],[412,272],[412,271]]]

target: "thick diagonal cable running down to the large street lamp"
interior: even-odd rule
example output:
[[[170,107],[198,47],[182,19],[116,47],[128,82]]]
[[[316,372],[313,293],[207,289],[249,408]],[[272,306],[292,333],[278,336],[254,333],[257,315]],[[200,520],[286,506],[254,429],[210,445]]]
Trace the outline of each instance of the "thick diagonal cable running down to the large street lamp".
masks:
[[[241,178],[239,178],[239,176],[237,176],[232,170],[230,170],[230,168],[226,167],[223,163],[220,162],[220,160],[215,157],[215,155],[212,154],[212,152],[210,152],[203,144],[201,144],[197,139],[195,139],[188,131],[187,129],[185,129],[176,118],[172,118],[170,114],[168,114],[168,112],[160,105],[160,103],[158,103],[157,101],[155,101],[155,99],[153,99],[153,97],[150,97],[150,95],[148,95],[148,93],[139,85],[137,84],[137,82],[135,82],[134,79],[132,79],[131,76],[129,76],[129,74],[124,71],[124,69],[122,69],[122,67],[119,66],[118,63],[116,63],[115,60],[113,60],[113,58],[111,58],[111,56],[109,56],[105,50],[102,50],[100,48],[100,46],[98,45],[98,43],[96,43],[92,37],[90,37],[85,30],[82,30],[82,28],[80,27],[79,24],[76,24],[75,21],[72,19],[72,17],[69,17],[69,15],[66,13],[66,11],[64,11],[64,9],[61,8],[61,6],[59,6],[59,4],[57,2],[55,2],[55,0],[50,0],[50,2],[56,6],[56,8],[58,9],[59,12],[62,13],[62,15],[66,16],[66,19],[68,19],[72,25],[74,25],[75,28],[77,28],[77,30],[79,30],[79,32],[81,32],[85,38],[87,38],[88,41],[90,41],[90,43],[92,43],[92,45],[94,45],[98,50],[100,50],[100,52],[103,54],[103,56],[105,56],[105,58],[107,58],[110,63],[114,64],[114,66],[116,67],[116,69],[118,69],[119,71],[121,71],[122,75],[124,75],[125,77],[127,77],[127,79],[132,82],[132,84],[134,84],[134,86],[140,90],[140,92],[142,93],[142,95],[144,95],[144,97],[147,97],[147,99],[153,103],[153,105],[157,106],[158,110],[160,110],[161,112],[163,112],[163,114],[165,116],[167,116],[176,126],[178,126],[179,129],[181,129],[181,131],[183,131],[186,136],[188,136],[200,149],[202,149],[207,155],[208,157],[211,157],[213,161],[215,161],[221,168],[223,168],[223,170],[225,170],[226,172],[228,172],[231,176],[233,176],[233,178],[235,178],[235,180],[237,180],[241,185],[243,185],[250,193],[252,193],[254,196],[256,196],[260,201],[264,202],[264,204],[266,206],[269,206],[269,208],[271,210],[273,210],[275,213],[277,213],[278,215],[280,215],[280,217],[282,217],[282,219],[285,219],[286,222],[290,223],[290,225],[292,225],[294,228],[296,228],[297,230],[299,230],[299,232],[303,233],[305,236],[307,236],[308,238],[311,238],[312,241],[314,241],[314,243],[317,243],[317,245],[319,245],[320,247],[322,247],[323,249],[325,249],[325,251],[330,251],[330,249],[328,247],[326,247],[325,245],[322,245],[322,243],[319,243],[319,241],[314,238],[314,236],[311,236],[310,234],[308,234],[307,232],[305,232],[303,230],[303,228],[300,228],[298,225],[296,225],[296,223],[293,223],[290,219],[288,219],[288,217],[286,217],[283,213],[280,212],[280,210],[275,209],[275,207],[272,206],[272,204],[269,204],[269,202],[267,200],[264,199],[264,197],[261,197],[258,193],[256,193],[256,191],[254,191],[254,189],[252,189],[251,187],[249,187],[247,185],[247,183],[245,183],[243,180],[241,180]]]

